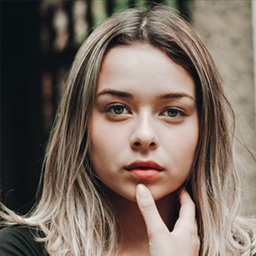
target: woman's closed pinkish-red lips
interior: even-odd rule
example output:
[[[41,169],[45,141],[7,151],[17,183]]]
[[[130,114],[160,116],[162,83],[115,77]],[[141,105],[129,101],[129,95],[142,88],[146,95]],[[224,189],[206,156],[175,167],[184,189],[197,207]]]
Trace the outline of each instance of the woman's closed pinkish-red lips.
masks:
[[[136,161],[125,167],[125,169],[137,178],[152,179],[163,170],[163,167],[153,161]]]

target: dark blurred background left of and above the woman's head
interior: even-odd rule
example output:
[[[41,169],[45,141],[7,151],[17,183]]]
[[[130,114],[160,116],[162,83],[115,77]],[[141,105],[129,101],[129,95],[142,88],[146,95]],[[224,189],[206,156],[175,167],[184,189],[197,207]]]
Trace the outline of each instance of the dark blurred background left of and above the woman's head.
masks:
[[[20,213],[35,202],[61,81],[83,39],[95,24],[121,8],[162,1],[123,0],[118,6],[114,0],[98,0],[98,5],[84,0],[86,13],[80,19],[87,31],[82,39],[76,39],[74,31],[74,20],[79,16],[72,11],[75,2],[0,2],[1,202]],[[169,0],[163,4],[188,17],[189,2]]]

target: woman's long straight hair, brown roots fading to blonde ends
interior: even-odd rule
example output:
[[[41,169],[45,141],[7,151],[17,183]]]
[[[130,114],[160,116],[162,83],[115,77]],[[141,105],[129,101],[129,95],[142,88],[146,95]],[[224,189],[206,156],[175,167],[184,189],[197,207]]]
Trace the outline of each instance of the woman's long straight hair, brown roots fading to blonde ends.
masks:
[[[199,142],[187,188],[197,208],[200,255],[253,254],[255,224],[238,217],[233,111],[209,52],[191,25],[167,7],[128,9],[87,38],[64,84],[45,157],[41,199],[28,215],[6,209],[5,218],[40,228],[45,234],[40,240],[51,255],[117,253],[118,223],[92,170],[88,126],[104,55],[117,45],[141,43],[161,49],[196,84]]]

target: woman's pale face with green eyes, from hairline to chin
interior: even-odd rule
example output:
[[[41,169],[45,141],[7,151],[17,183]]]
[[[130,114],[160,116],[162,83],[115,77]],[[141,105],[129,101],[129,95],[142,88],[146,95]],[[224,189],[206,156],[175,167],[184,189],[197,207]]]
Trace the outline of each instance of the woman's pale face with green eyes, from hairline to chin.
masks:
[[[111,49],[90,134],[93,168],[112,191],[132,201],[138,183],[155,200],[172,193],[188,178],[198,143],[191,75],[148,44]]]

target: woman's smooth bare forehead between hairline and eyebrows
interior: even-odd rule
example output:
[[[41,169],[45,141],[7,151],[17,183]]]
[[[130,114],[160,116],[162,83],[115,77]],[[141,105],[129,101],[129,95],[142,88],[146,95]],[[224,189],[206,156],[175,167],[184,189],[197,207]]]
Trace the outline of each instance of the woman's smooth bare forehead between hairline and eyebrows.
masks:
[[[195,97],[195,84],[189,72],[149,44],[116,46],[106,54],[97,93],[106,89],[145,95],[183,92]]]

